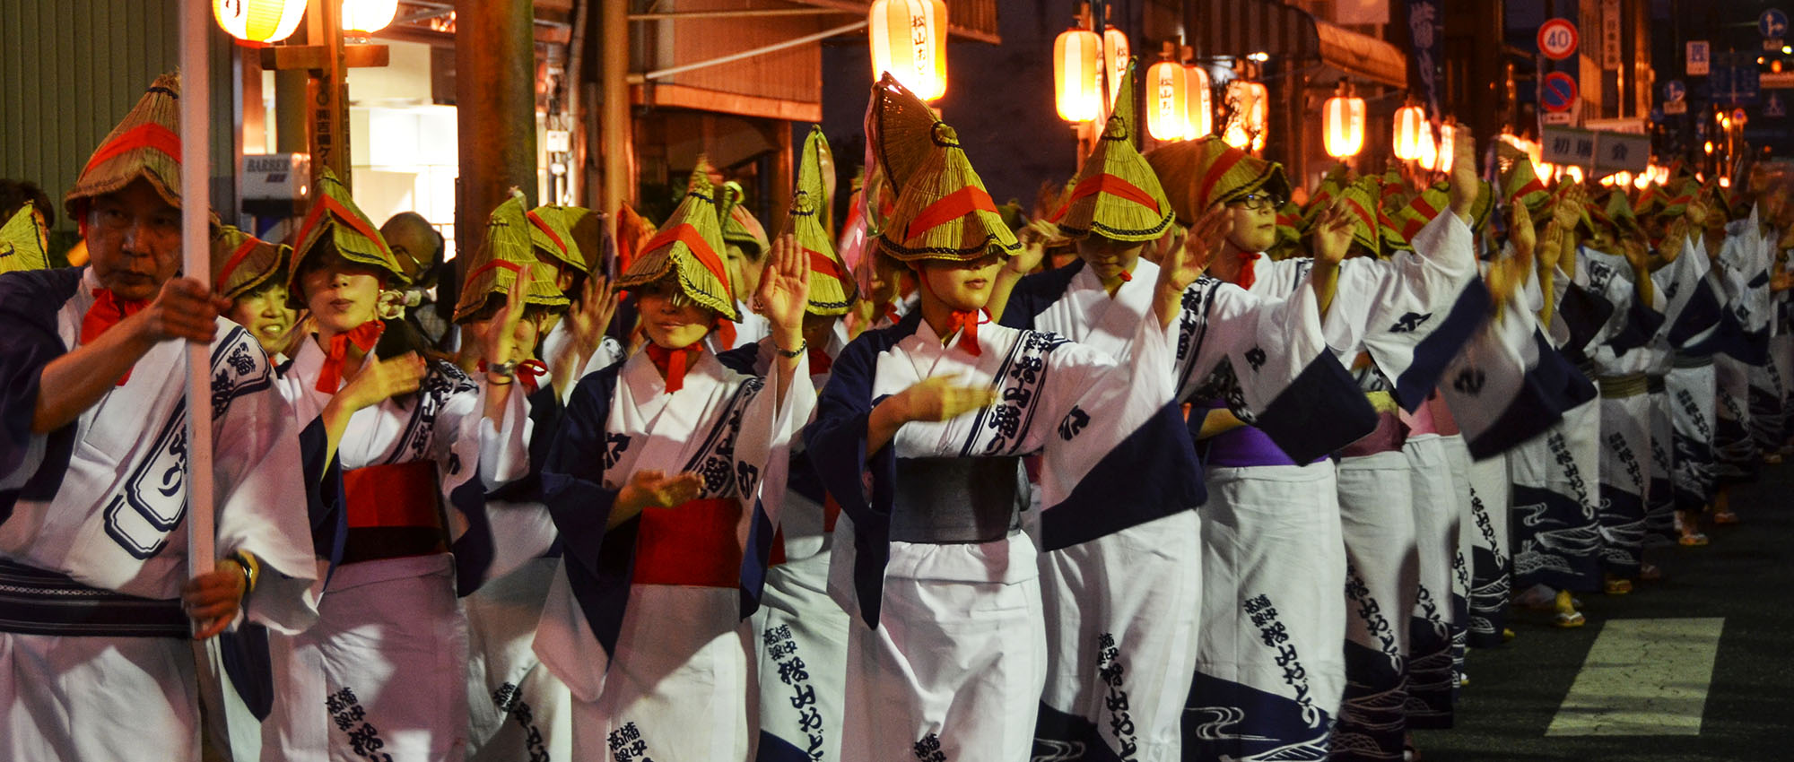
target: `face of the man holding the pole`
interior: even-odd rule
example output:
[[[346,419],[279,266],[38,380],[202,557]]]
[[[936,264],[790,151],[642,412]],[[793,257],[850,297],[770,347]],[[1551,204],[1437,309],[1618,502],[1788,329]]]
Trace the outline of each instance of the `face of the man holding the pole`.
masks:
[[[93,276],[120,299],[154,299],[181,269],[181,210],[145,179],[88,204]]]

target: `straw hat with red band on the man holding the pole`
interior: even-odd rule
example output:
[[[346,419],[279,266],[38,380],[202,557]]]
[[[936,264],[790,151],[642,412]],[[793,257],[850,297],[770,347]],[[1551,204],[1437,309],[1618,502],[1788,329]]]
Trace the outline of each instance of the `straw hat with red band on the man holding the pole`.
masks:
[[[81,178],[63,201],[70,217],[84,217],[88,199],[111,194],[138,178],[147,179],[163,201],[181,206],[179,99],[179,74],[163,74],[151,82],[149,91],[100,140],[100,147],[81,169]]]

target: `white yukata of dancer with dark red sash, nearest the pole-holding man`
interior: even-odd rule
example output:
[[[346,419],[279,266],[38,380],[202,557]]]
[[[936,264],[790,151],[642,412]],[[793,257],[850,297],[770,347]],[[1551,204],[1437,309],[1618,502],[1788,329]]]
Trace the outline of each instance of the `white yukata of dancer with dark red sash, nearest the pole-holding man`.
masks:
[[[316,389],[323,362],[318,341],[305,341],[280,378],[296,420],[318,418],[334,396]],[[335,463],[343,472],[434,464],[438,489],[427,500],[448,509],[447,529],[459,534],[463,511],[479,509],[477,495],[527,470],[529,423],[520,387],[497,430],[484,420],[486,393],[484,382],[431,362],[420,391],[350,416]],[[344,509],[353,516],[355,507]],[[318,624],[285,645],[291,687],[283,699],[291,719],[264,726],[264,757],[278,749],[285,758],[330,762],[366,755],[391,755],[395,762],[463,758],[468,633],[456,599],[454,558],[440,552],[339,565],[318,608]],[[271,740],[271,728],[285,748]]]

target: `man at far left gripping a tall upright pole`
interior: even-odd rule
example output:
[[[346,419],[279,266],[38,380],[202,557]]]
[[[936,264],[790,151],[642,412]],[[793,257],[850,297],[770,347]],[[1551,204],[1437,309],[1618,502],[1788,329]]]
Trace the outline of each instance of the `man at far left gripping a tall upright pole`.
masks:
[[[0,276],[0,758],[197,760],[183,640],[316,617],[267,357],[203,278],[176,278],[178,99],[158,77],[70,190],[91,264]],[[187,342],[210,344],[215,457],[188,448]],[[217,484],[197,507],[224,558],[192,577],[190,470]]]

